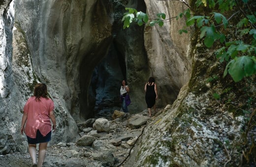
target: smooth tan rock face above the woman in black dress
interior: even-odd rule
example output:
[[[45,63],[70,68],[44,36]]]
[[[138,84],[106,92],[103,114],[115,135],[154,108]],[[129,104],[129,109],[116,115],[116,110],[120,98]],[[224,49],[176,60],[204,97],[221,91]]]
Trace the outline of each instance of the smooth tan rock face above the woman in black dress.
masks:
[[[182,2],[145,0],[149,18],[165,13],[166,19],[175,17],[185,8]],[[190,35],[179,34],[185,25],[183,19],[171,19],[162,27],[145,28],[145,49],[147,51],[150,75],[159,85],[160,104],[173,102],[180,88],[191,75]]]

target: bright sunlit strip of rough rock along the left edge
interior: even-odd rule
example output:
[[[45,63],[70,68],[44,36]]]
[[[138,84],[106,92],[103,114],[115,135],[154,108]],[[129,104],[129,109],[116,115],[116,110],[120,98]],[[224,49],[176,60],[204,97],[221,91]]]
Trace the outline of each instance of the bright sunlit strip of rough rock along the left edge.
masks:
[[[0,154],[16,150],[15,137],[17,119],[19,119],[19,98],[12,76],[12,27],[13,3],[11,0],[0,1]],[[12,99],[13,97],[13,99]],[[16,103],[13,103],[16,102]]]

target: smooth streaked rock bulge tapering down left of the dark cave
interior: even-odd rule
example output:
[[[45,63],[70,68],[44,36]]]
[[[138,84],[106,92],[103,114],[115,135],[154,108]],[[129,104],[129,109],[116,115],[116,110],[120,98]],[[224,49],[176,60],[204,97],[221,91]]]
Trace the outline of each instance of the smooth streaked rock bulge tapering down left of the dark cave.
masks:
[[[34,72],[73,117],[88,116],[92,72],[111,41],[108,2],[21,0],[16,6]]]

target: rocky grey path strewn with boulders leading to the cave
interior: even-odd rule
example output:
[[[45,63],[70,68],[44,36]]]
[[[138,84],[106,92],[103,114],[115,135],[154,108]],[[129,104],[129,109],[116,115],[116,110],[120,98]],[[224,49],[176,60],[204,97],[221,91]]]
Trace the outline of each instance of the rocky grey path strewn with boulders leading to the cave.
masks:
[[[128,157],[129,152],[132,152],[134,142],[151,121],[147,115],[146,110],[131,115],[120,111],[117,111],[116,115],[98,115],[103,120],[102,126],[109,128],[106,130],[108,132],[95,130],[97,127],[93,127],[93,124],[97,118],[79,122],[77,125],[80,130],[80,142],[60,142],[49,146],[43,167],[122,167],[122,162]],[[109,126],[106,126],[106,121]],[[88,143],[90,140],[92,143]],[[29,153],[0,155],[0,167],[31,166]]]

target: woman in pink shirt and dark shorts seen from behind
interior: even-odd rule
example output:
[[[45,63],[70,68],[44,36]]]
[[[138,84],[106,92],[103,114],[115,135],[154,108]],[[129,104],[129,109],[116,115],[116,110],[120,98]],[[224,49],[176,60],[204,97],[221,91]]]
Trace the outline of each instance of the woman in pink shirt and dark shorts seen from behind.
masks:
[[[44,83],[37,83],[34,94],[24,106],[24,114],[21,123],[21,134],[27,135],[29,153],[32,158],[32,167],[42,167],[46,154],[47,143],[51,140],[52,125],[53,132],[56,130],[54,115],[54,103],[48,98],[47,87]],[[50,121],[51,119],[51,121]],[[26,126],[25,126],[26,123]],[[38,163],[36,163],[36,144],[39,143]]]

